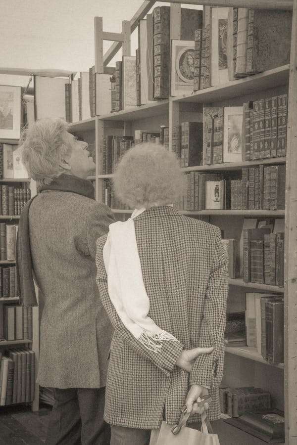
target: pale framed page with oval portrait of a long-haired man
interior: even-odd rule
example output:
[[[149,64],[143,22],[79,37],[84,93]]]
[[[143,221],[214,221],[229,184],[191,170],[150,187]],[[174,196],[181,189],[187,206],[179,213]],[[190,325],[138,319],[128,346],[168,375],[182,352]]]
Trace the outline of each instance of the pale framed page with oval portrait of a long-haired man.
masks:
[[[194,88],[195,42],[172,40],[171,45],[171,95],[189,95]]]

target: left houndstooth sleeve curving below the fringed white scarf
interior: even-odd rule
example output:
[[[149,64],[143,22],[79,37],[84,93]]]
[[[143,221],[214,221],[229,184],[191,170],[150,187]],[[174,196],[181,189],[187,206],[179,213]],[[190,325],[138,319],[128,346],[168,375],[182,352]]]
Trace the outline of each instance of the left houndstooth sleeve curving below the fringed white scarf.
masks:
[[[127,343],[134,349],[137,354],[150,360],[162,372],[169,376],[184,347],[179,341],[166,340],[162,342],[162,347],[158,352],[150,351],[141,342],[139,342],[124,326],[116,310],[114,309],[114,306],[111,303],[108,295],[107,275],[103,263],[103,246],[105,244],[105,241],[106,236],[103,236],[97,242],[96,281],[99,288],[99,295],[102,304],[111,320],[111,323],[113,324],[113,327],[117,330],[117,332],[127,341]]]

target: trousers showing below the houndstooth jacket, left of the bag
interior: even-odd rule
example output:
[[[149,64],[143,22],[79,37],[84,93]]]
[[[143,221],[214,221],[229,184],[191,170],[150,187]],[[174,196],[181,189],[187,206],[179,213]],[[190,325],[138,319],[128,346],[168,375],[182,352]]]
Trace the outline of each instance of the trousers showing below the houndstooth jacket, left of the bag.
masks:
[[[148,445],[150,430],[138,430],[117,425],[110,425],[110,445]]]

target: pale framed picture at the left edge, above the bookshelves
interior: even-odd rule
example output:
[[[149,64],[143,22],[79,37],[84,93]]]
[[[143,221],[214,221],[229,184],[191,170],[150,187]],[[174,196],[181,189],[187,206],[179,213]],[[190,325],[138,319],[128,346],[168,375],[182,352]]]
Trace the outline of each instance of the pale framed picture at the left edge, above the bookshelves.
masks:
[[[0,85],[0,139],[19,139],[21,87]]]

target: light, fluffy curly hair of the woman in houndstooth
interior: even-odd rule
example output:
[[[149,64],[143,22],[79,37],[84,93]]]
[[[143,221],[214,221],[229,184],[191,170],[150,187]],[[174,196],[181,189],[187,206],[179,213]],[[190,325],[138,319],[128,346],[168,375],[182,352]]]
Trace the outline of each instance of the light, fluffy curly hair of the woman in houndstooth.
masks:
[[[123,204],[149,209],[177,202],[184,191],[184,177],[173,152],[147,142],[135,145],[122,157],[115,169],[113,188]]]

